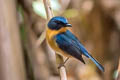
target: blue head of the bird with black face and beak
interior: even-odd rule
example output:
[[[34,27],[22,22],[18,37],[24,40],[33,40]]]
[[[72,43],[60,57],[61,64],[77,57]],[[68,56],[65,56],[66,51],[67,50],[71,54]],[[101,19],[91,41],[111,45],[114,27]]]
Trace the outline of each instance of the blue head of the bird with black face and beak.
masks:
[[[62,27],[72,27],[71,24],[68,23],[67,19],[61,16],[53,17],[48,22],[48,28],[52,30],[59,30]]]

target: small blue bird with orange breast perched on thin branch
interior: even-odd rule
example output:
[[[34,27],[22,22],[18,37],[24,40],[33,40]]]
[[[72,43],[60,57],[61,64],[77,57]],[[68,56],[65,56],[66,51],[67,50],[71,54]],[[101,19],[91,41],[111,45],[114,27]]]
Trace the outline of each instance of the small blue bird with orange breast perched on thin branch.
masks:
[[[51,18],[46,29],[46,40],[49,46],[67,59],[74,57],[85,64],[82,57],[84,55],[104,72],[104,67],[88,53],[80,40],[68,29],[69,27],[72,27],[72,25],[68,23],[65,17],[55,16]]]

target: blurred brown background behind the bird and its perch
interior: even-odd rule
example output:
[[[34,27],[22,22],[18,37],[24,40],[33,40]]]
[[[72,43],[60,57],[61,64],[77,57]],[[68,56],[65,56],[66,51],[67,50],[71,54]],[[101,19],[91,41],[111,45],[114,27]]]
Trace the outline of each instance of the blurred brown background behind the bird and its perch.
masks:
[[[68,19],[105,68],[101,72],[85,57],[85,65],[70,59],[68,80],[120,80],[120,0],[50,2],[54,16]],[[0,80],[60,80],[54,52],[46,41],[39,44],[47,22],[43,0],[0,0],[0,5]]]

